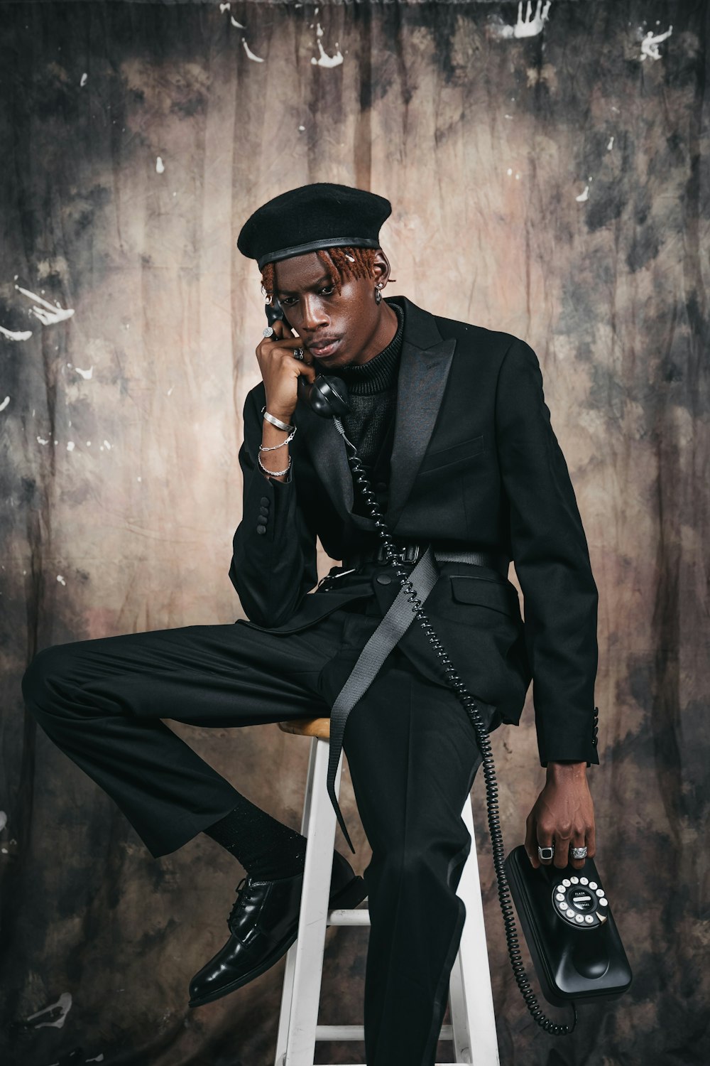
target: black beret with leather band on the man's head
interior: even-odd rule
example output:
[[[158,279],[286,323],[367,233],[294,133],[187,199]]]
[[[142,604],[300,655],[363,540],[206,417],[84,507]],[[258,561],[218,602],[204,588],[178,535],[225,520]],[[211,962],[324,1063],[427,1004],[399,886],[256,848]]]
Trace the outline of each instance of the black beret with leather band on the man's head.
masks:
[[[318,248],[379,248],[380,226],[391,213],[390,200],[376,193],[315,181],[258,208],[242,226],[236,246],[260,270]]]

